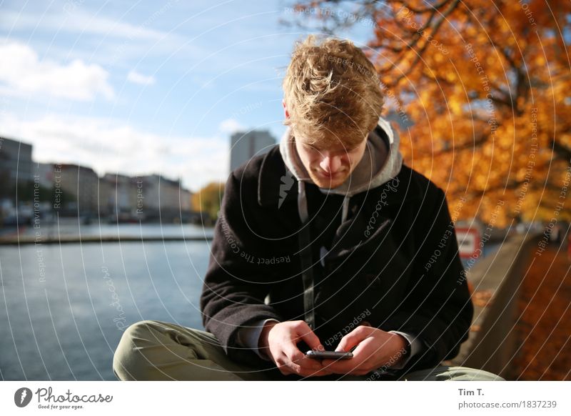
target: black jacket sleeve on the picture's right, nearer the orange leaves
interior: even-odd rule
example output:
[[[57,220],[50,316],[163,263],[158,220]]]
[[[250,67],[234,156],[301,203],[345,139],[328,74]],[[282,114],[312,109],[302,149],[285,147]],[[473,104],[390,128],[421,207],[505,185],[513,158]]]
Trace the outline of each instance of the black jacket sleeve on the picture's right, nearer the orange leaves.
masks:
[[[435,367],[458,355],[474,313],[445,194],[436,187],[424,201],[433,195],[434,208],[420,209],[413,225],[418,227],[414,233],[418,256],[405,299],[382,325],[415,334],[427,347],[410,358],[407,371]]]

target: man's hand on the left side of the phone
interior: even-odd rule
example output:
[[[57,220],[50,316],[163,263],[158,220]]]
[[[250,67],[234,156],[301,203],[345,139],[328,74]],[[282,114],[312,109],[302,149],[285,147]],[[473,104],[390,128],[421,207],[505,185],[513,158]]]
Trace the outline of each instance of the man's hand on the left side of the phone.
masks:
[[[325,350],[305,321],[267,322],[258,347],[276,363],[283,375],[315,377],[333,374],[332,371],[325,370],[321,362],[309,358],[298,349],[297,343],[300,340],[305,341],[312,350]]]

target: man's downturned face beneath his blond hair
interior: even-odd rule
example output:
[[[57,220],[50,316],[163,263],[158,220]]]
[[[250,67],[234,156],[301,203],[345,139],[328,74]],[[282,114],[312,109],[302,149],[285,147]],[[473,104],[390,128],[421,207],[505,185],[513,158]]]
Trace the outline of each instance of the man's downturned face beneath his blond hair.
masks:
[[[320,188],[339,187],[357,167],[365,153],[367,137],[356,147],[348,148],[343,143],[321,149],[295,137],[295,147],[310,178]]]

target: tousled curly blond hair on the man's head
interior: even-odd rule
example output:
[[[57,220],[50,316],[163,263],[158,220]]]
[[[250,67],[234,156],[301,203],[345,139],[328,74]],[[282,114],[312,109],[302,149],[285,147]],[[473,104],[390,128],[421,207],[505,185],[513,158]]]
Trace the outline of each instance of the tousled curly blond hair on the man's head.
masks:
[[[310,35],[296,42],[283,93],[290,116],[283,124],[308,144],[356,146],[375,128],[383,109],[375,67],[348,40],[320,42]]]

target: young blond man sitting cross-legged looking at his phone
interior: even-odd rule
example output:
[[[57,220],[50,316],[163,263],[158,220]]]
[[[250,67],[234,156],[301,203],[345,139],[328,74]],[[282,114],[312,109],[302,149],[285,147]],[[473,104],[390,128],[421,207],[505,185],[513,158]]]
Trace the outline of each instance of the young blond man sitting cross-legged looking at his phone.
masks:
[[[403,164],[373,64],[298,44],[281,143],[228,177],[201,296],[208,332],[126,330],[121,380],[502,380],[443,367],[473,317],[442,189]],[[308,350],[352,351],[315,360]]]

